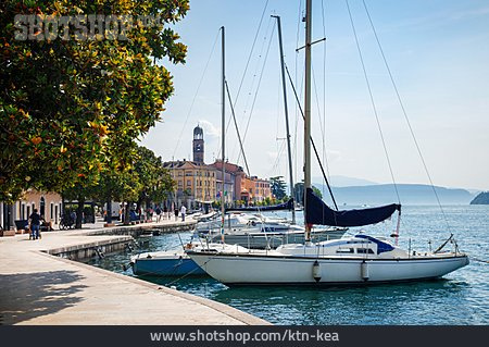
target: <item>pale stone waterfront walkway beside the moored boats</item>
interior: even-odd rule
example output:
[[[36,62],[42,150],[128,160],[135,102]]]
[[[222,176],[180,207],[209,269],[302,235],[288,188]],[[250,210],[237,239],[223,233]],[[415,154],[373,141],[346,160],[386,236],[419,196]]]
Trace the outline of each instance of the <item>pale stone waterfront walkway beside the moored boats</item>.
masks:
[[[175,223],[181,222],[159,224]],[[93,231],[46,232],[39,240],[0,237],[0,324],[268,324],[220,302],[47,253],[128,237],[100,235],[111,228],[89,236]]]

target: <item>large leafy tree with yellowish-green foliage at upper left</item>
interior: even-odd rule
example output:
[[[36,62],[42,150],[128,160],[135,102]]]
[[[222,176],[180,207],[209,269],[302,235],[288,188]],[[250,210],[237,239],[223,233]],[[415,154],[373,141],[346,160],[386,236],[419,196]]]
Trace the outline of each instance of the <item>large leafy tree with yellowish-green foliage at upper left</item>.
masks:
[[[0,3],[0,200],[22,190],[63,191],[96,182],[106,158],[130,170],[135,138],[155,124],[173,94],[156,59],[185,63],[186,47],[162,25],[128,26],[124,38],[79,39],[74,25],[49,38],[26,20],[124,13],[179,21],[188,0],[4,0]],[[78,36],[77,36],[78,34]],[[17,39],[16,39],[17,38]],[[21,39],[18,39],[21,38]],[[83,37],[82,37],[83,38]]]

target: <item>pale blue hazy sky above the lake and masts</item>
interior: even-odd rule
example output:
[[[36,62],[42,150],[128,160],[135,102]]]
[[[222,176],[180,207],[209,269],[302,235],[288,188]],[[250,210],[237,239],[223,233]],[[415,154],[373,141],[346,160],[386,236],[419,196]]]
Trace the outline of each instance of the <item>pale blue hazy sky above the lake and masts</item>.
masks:
[[[365,3],[432,183],[489,190],[489,2]],[[313,46],[312,58],[312,135],[319,156],[329,175],[377,183],[392,183],[393,175],[397,183],[429,184],[363,2],[348,4],[374,102],[347,2],[313,0],[313,40],[326,37]],[[281,17],[286,64],[303,103],[304,52],[296,51],[304,42],[303,12],[299,0],[190,1],[187,16],[174,26],[188,46],[186,64],[159,62],[172,73],[175,92],[162,122],[141,144],[164,161],[191,160],[192,131],[200,124],[205,162],[221,158],[218,30],[225,26],[226,79],[250,173],[288,182],[278,37],[271,15]],[[300,181],[303,122],[290,84],[287,95],[293,175]],[[226,99],[226,122],[230,117]],[[225,139],[226,158],[244,165],[233,124]],[[315,161],[312,171],[322,176]]]

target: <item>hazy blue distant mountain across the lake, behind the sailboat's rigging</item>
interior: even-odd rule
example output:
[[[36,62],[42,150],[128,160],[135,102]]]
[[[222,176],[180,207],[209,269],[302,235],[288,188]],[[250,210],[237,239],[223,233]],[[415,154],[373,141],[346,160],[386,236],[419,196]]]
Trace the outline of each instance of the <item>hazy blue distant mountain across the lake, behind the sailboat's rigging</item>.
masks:
[[[327,193],[327,187],[314,183],[323,191],[323,199],[331,203]],[[442,205],[467,205],[474,198],[474,195],[465,189],[435,187]],[[437,205],[436,196],[431,186],[422,184],[398,184],[398,191],[402,205]],[[376,206],[397,202],[396,189],[392,184],[377,184],[368,186],[333,187],[336,202],[341,205],[354,206]]]

